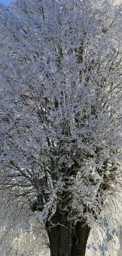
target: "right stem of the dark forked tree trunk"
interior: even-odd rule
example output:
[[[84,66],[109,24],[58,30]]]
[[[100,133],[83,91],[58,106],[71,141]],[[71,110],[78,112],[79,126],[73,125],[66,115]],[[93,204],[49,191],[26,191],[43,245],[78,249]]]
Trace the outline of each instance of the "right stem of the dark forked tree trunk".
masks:
[[[91,228],[85,219],[77,222],[72,235],[71,256],[85,256],[87,239]]]

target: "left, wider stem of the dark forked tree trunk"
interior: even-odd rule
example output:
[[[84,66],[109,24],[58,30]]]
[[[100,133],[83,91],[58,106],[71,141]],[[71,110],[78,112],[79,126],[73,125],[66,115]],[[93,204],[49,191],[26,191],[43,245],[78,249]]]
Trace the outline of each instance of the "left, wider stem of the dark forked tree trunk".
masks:
[[[70,256],[71,255],[71,222],[61,220],[57,216],[51,219],[53,227],[46,225],[51,256]],[[57,223],[60,223],[56,225]]]

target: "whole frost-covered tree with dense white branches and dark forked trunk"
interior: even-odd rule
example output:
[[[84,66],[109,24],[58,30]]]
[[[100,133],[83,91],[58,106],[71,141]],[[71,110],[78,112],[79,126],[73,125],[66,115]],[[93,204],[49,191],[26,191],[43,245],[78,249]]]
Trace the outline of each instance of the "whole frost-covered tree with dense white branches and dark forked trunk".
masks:
[[[84,256],[121,189],[121,5],[15,0],[0,22],[1,216]]]

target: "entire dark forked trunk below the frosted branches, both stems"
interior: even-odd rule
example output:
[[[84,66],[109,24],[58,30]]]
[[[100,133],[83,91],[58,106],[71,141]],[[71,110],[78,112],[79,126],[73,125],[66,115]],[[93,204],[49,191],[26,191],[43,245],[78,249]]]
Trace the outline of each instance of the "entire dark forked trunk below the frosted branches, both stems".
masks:
[[[87,239],[91,228],[85,220],[77,222],[71,228],[71,222],[61,220],[61,216],[54,216],[51,220],[53,227],[46,224],[50,242],[51,256],[85,256]],[[58,223],[60,223],[58,225]]]

